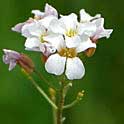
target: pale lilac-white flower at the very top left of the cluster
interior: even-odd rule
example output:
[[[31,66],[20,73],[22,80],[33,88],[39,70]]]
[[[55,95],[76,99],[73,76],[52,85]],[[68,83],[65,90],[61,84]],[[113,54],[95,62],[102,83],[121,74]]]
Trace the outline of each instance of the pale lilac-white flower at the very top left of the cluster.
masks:
[[[37,18],[44,18],[46,16],[56,16],[58,17],[58,12],[55,8],[53,8],[52,6],[50,6],[49,4],[45,5],[45,10],[44,12],[41,12],[40,10],[32,10],[32,13],[35,15],[35,17]]]

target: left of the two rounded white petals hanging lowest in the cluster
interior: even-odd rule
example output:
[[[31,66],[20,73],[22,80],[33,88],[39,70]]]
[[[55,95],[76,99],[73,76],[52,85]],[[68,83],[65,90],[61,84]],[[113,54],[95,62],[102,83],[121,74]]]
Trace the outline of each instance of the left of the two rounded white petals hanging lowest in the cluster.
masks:
[[[65,69],[66,57],[61,57],[59,54],[51,55],[46,63],[45,68],[48,73],[61,75]]]

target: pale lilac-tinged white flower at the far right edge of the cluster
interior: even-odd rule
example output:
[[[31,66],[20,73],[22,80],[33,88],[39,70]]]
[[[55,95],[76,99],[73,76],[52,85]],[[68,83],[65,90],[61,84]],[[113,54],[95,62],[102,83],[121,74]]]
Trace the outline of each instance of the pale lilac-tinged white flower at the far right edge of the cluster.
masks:
[[[104,29],[104,18],[99,18],[92,21],[96,25],[96,31],[91,35],[93,42],[96,42],[98,39],[106,37],[109,38],[113,29]]]

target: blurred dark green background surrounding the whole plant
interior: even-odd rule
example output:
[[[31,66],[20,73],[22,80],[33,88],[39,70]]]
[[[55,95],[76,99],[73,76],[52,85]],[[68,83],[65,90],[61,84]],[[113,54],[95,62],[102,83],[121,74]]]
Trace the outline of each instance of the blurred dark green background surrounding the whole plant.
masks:
[[[66,103],[78,90],[84,99],[65,111],[65,124],[124,124],[124,1],[123,0],[1,0],[0,2],[0,124],[52,124],[51,106],[16,67],[12,72],[2,62],[2,49],[29,54],[37,68],[47,75],[40,54],[24,51],[25,38],[11,31],[18,22],[31,16],[32,9],[43,10],[45,3],[61,14],[79,13],[85,8],[91,15],[101,13],[105,27],[113,28],[110,39],[101,39],[96,54],[85,62],[86,75],[75,81]],[[35,79],[47,92],[44,82]]]

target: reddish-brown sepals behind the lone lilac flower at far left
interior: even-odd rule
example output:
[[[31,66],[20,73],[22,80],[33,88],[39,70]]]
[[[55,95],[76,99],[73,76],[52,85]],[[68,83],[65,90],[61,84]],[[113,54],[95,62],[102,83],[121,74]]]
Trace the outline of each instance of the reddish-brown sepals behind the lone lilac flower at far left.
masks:
[[[34,71],[34,63],[32,59],[25,54],[21,54],[21,57],[17,60],[17,63],[29,74]]]

